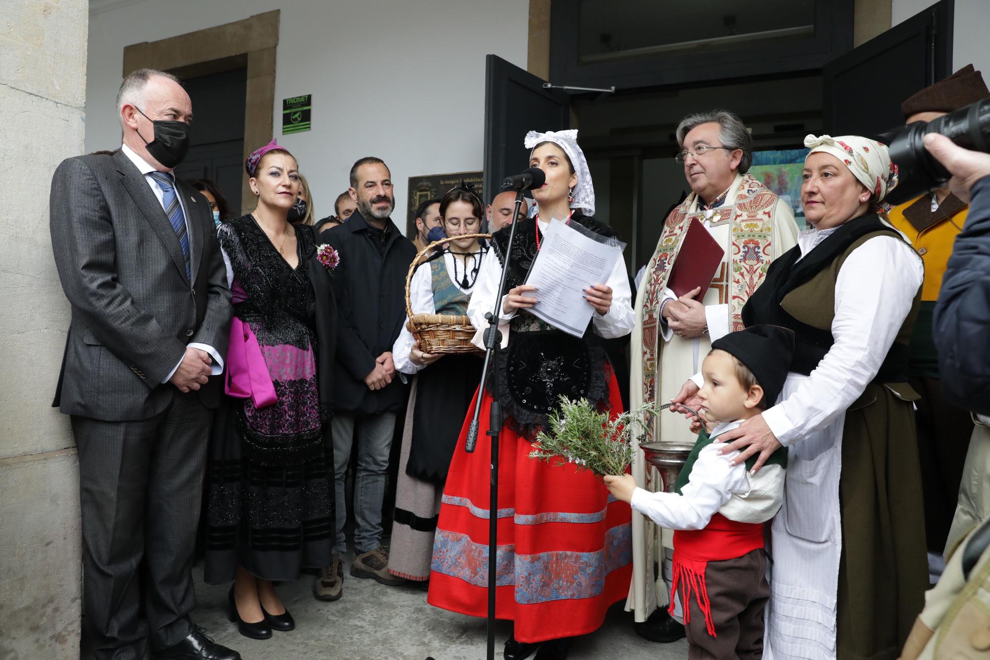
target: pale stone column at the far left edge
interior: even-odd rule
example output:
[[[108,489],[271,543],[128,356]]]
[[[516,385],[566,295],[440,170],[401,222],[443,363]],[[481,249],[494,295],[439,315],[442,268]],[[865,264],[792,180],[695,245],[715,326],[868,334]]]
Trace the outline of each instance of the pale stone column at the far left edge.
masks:
[[[86,0],[4,3],[0,29],[0,657],[78,658],[78,468],[50,407],[68,303],[49,238],[55,167],[83,151]]]

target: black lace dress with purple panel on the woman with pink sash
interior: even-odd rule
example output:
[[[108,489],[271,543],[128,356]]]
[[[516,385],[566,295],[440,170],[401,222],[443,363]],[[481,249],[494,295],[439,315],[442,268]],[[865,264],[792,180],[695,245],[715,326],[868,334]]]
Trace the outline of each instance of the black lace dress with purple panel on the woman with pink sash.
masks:
[[[333,454],[325,446],[317,382],[316,300],[296,228],[293,269],[251,216],[220,226],[234,316],[257,340],[277,400],[227,396],[216,415],[209,465],[206,581],[234,579],[237,566],[288,581],[331,563]],[[233,348],[232,348],[233,351]]]

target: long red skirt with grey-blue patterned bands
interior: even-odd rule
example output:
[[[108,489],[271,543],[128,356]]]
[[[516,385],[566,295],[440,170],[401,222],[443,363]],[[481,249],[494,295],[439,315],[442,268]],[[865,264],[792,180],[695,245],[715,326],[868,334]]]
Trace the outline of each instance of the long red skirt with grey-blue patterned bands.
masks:
[[[622,411],[611,373],[609,401],[614,413]],[[470,417],[460,430],[444,487],[427,599],[472,616],[488,612],[490,404],[485,392],[474,453],[464,451]],[[473,400],[468,410],[473,413]],[[532,643],[598,629],[609,605],[629,593],[633,546],[629,504],[612,499],[592,473],[535,461],[530,451],[526,438],[503,429],[495,615],[515,621],[516,639]]]

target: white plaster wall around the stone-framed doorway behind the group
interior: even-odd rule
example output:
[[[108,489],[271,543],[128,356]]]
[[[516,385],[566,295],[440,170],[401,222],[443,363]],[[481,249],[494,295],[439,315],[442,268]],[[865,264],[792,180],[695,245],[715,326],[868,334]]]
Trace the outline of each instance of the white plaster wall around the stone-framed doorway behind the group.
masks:
[[[94,2],[86,151],[120,144],[114,96],[125,46],[272,9],[281,10],[275,137],[299,160],[319,217],[364,156],[391,168],[400,229],[409,176],[481,168],[485,55],[526,67],[529,0]],[[282,99],[300,94],[313,94],[313,130],[283,137]]]

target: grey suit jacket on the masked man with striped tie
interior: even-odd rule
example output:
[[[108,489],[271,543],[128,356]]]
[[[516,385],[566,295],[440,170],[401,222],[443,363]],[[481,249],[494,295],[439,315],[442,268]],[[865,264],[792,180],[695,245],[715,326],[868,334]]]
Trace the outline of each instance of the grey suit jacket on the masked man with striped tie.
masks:
[[[51,180],[55,265],[72,320],[52,405],[110,421],[147,419],[178,392],[161,381],[186,344],[230,340],[231,292],[206,199],[182,181],[190,270],[148,181],[127,156],[79,156]],[[199,390],[209,407],[222,377]]]

